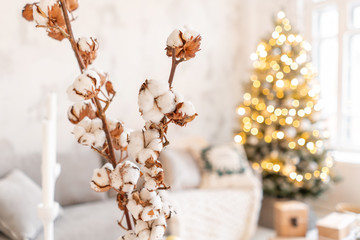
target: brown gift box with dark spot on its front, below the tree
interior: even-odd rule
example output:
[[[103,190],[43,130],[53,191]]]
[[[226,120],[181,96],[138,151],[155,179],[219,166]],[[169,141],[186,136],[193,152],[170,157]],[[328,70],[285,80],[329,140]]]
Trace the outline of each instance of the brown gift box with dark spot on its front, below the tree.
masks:
[[[309,207],[299,201],[279,201],[274,205],[274,225],[278,237],[305,237]]]

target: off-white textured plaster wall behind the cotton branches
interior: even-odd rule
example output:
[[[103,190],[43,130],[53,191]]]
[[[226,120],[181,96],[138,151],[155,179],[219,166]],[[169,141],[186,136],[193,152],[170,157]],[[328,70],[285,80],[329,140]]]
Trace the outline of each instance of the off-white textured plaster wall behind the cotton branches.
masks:
[[[68,42],[48,38],[20,17],[24,0],[0,0],[0,145],[15,153],[41,150],[41,120],[49,91],[58,94],[58,151],[72,149],[72,125],[65,91],[79,74]],[[173,28],[188,24],[203,36],[202,51],[178,68],[174,87],[191,100],[199,117],[185,129],[172,127],[170,139],[201,135],[210,142],[231,141],[247,81],[249,54],[272,29],[271,18],[289,9],[296,20],[297,1],[281,0],[82,0],[74,23],[76,36],[100,43],[97,68],[109,72],[117,97],[109,116],[128,127],[143,122],[137,93],[146,78],[167,81],[170,59],[165,41]]]

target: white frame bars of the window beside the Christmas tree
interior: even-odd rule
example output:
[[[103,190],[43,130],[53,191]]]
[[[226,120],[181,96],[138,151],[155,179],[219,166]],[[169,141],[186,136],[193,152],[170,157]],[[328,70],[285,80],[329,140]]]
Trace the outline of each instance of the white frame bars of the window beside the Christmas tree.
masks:
[[[319,46],[320,42],[324,39],[329,39],[331,36],[319,36],[320,34],[315,34],[315,24],[316,27],[319,27],[320,23],[317,14],[321,10],[326,8],[336,7],[338,12],[338,33],[337,33],[337,42],[338,42],[338,63],[337,63],[337,108],[334,116],[336,121],[335,131],[332,132],[331,147],[337,151],[346,151],[346,152],[357,152],[360,153],[360,143],[351,144],[349,141],[346,141],[346,126],[344,121],[346,118],[350,117],[349,110],[346,108],[346,92],[349,89],[349,79],[350,77],[350,40],[351,37],[359,34],[360,35],[360,26],[355,28],[352,24],[353,9],[354,7],[360,7],[360,0],[324,0],[324,1],[308,1],[305,3],[307,19],[304,20],[306,23],[306,29],[308,30],[306,34],[310,36],[310,40],[313,46],[316,46],[316,51],[312,52],[313,61],[318,65],[319,63]],[[332,36],[334,37],[334,36]],[[314,48],[313,48],[314,49]],[[360,124],[360,123],[359,123]],[[360,141],[359,141],[360,142]]]

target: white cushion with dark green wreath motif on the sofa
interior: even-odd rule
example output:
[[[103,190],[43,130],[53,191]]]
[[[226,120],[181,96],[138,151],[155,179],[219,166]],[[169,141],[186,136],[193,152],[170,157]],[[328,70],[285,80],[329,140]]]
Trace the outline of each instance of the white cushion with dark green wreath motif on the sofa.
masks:
[[[253,188],[253,176],[242,146],[225,144],[201,151],[201,188]]]

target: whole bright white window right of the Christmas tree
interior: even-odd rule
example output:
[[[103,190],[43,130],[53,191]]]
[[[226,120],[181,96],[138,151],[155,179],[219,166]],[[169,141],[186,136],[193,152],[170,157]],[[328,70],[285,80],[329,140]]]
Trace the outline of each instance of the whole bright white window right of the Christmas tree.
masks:
[[[360,151],[360,1],[313,0],[313,60],[338,150]]]

